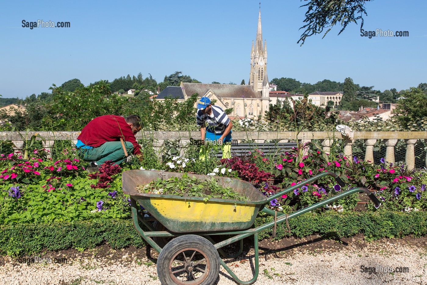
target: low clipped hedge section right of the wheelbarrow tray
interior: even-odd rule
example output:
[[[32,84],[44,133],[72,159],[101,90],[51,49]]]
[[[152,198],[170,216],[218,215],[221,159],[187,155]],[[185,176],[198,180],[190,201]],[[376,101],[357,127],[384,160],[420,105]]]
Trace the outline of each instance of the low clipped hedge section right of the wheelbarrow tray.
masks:
[[[258,214],[254,227],[271,222],[272,216]],[[376,212],[343,212],[326,211],[323,213],[306,213],[289,220],[291,235],[303,238],[309,235],[321,235],[323,238],[348,238],[362,234],[367,240],[380,238],[402,238],[412,235],[419,238],[427,234],[427,213],[399,213],[387,210]],[[259,233],[258,239],[270,238],[273,229],[269,228]],[[275,239],[289,237],[286,227],[276,228]]]

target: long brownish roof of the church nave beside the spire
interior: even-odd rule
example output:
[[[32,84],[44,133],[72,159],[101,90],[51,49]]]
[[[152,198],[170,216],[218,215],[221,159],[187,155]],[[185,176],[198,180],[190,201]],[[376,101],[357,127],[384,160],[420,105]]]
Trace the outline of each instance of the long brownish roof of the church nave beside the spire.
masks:
[[[198,93],[199,96],[205,95],[211,90],[219,98],[254,98],[260,99],[261,94],[255,92],[252,86],[236,84],[205,84],[205,83],[182,83],[185,95],[191,96]]]

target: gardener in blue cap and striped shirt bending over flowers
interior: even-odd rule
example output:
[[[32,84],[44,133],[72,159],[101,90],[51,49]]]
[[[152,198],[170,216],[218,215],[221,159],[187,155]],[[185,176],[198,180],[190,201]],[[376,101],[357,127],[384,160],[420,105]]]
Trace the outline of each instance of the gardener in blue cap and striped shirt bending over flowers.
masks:
[[[231,158],[233,123],[220,107],[211,104],[208,97],[200,98],[197,103],[196,121],[200,127],[203,144],[216,141],[221,145],[222,158]],[[201,154],[200,159],[204,158],[205,155]]]

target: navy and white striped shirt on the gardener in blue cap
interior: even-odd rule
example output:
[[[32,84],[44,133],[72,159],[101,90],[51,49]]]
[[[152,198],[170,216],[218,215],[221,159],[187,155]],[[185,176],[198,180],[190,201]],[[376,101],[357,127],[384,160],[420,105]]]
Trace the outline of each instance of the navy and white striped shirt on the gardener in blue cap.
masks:
[[[197,110],[196,114],[196,122],[199,127],[204,127],[205,122],[208,122],[207,131],[210,131],[211,133],[215,134],[222,134],[225,131],[225,128],[230,123],[230,119],[228,119],[228,116],[224,113],[224,111],[218,107],[213,106],[212,107],[212,113],[211,115],[208,115],[207,113],[203,114],[202,110]]]

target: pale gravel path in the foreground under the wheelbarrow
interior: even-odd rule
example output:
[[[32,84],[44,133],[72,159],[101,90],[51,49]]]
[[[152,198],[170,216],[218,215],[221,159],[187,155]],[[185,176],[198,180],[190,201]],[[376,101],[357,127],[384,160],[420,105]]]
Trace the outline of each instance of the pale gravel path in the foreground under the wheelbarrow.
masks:
[[[261,244],[264,251],[260,250],[260,275],[254,284],[427,284],[427,239],[411,240],[415,242],[382,240],[367,243],[350,239],[348,243],[336,243],[322,240],[314,247],[307,246],[304,240],[296,240],[293,246],[282,250],[271,250],[278,244],[264,242]],[[270,249],[266,249],[266,245]],[[253,249],[249,249],[245,256],[227,261],[243,280],[252,277],[253,253]],[[0,259],[0,285],[160,284],[155,259],[150,260],[143,249],[115,251],[108,248],[105,251],[97,248],[84,253],[60,254],[56,258],[67,258],[67,263],[28,265],[3,257]],[[377,265],[393,269],[402,267],[402,270],[407,267],[409,272],[361,272],[361,266]],[[221,267],[216,284],[237,283]]]

